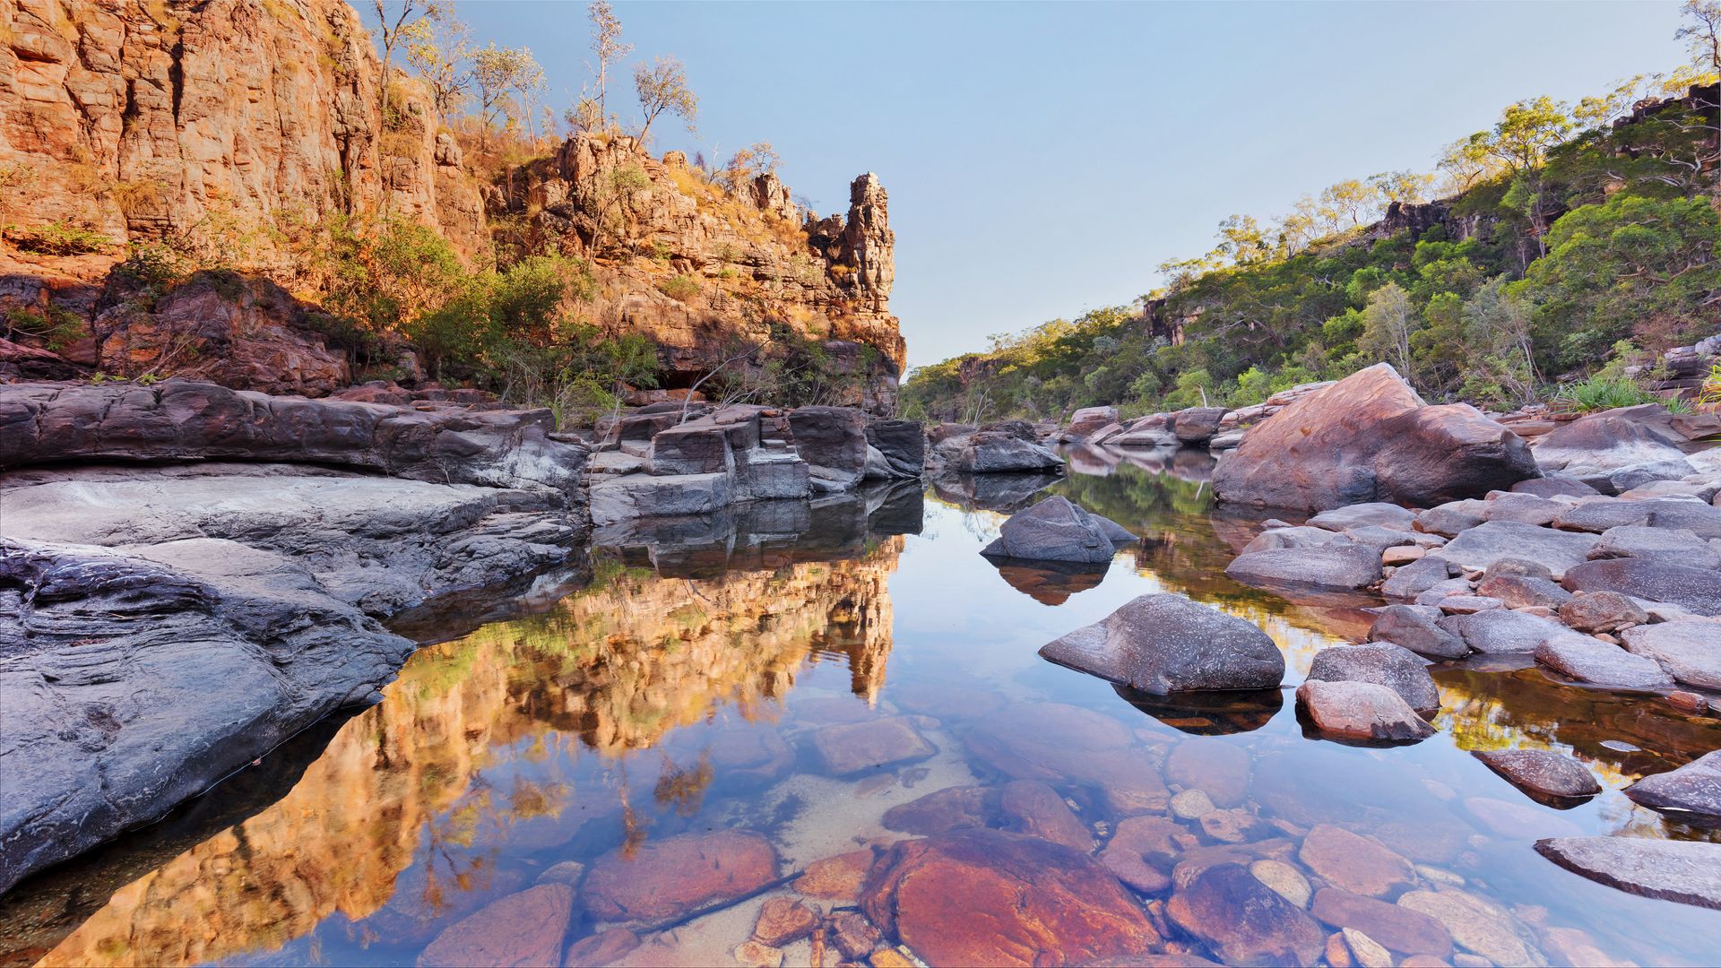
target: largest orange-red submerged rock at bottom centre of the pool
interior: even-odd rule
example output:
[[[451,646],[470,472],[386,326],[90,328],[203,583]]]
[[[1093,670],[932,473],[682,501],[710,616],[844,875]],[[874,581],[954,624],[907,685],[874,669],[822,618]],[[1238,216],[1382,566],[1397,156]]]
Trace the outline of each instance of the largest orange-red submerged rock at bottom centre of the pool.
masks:
[[[929,965],[1069,965],[1160,947],[1098,861],[996,830],[893,846],[867,875],[860,906]]]

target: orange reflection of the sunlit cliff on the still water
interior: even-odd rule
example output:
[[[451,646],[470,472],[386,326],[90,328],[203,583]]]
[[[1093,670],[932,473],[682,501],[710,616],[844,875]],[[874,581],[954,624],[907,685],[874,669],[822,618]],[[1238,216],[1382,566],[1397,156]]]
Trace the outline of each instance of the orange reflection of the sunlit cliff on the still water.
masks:
[[[360,939],[413,937],[520,887],[492,884],[513,877],[496,873],[497,849],[621,823],[625,789],[573,782],[592,751],[602,768],[723,710],[774,718],[809,663],[845,661],[854,691],[874,698],[904,539],[869,534],[867,510],[847,537],[807,534],[816,560],[762,551],[768,568],[659,574],[628,563],[640,544],[595,551],[585,591],[420,649],[291,792],[114,892],[45,963],[234,959],[329,918]],[[719,544],[733,560],[735,543]],[[719,555],[663,541],[651,551],[676,562],[669,572]],[[637,763],[647,787],[659,766],[676,780],[668,758]]]

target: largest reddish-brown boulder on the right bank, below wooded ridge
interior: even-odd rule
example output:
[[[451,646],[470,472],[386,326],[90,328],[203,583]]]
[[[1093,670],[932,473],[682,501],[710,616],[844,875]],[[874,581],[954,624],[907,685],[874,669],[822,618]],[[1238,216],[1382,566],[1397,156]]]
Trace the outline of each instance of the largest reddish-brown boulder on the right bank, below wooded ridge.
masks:
[[[1428,406],[1387,363],[1256,424],[1213,472],[1220,501],[1322,512],[1432,506],[1535,477],[1521,437],[1466,405]]]

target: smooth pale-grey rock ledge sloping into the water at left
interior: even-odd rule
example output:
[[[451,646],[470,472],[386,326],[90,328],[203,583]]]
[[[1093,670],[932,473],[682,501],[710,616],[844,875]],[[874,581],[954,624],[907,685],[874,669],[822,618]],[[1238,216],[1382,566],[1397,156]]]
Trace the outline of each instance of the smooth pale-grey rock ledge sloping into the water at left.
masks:
[[[552,487],[294,465],[0,475],[0,890],[377,698],[377,618],[561,563]]]

